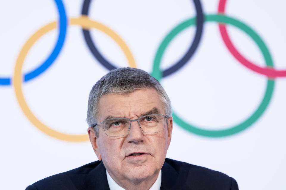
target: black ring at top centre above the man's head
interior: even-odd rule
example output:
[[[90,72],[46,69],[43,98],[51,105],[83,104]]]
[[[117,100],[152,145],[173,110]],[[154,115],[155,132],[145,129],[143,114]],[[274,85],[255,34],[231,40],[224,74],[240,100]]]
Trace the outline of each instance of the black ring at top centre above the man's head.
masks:
[[[176,64],[174,64],[173,66],[171,66],[170,68],[166,69],[163,71],[163,77],[166,77],[172,73],[174,73],[175,71],[177,71],[178,69],[180,69],[182,66],[184,66],[187,61],[192,57],[192,55],[195,53],[195,50],[198,47],[198,44],[200,42],[202,33],[203,33],[203,22],[204,22],[204,18],[203,18],[203,10],[202,10],[202,6],[200,4],[199,0],[193,0],[194,4],[195,4],[195,8],[196,8],[196,13],[197,13],[197,17],[196,17],[196,25],[197,25],[197,29],[196,29],[196,34],[195,37],[193,39],[193,42],[191,44],[191,46],[189,47],[189,50],[187,51],[187,53],[181,58],[180,61],[178,61]],[[88,15],[88,9],[89,9],[89,5],[90,5],[90,0],[85,0],[83,2],[83,8],[82,8],[82,15]],[[83,35],[84,38],[86,40],[86,43],[89,47],[89,49],[91,50],[91,53],[94,55],[94,57],[103,65],[105,66],[105,68],[112,70],[112,69],[116,69],[116,67],[111,64],[110,62],[108,62],[97,50],[96,46],[94,45],[92,39],[91,39],[91,35],[89,30],[83,29]]]

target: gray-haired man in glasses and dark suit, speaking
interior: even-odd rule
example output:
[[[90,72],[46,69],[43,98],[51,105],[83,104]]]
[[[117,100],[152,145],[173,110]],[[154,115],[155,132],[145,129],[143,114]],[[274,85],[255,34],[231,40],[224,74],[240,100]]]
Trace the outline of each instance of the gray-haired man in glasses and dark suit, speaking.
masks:
[[[27,189],[237,190],[229,176],[166,158],[173,119],[160,83],[135,68],[114,69],[91,89],[88,135],[99,161]]]

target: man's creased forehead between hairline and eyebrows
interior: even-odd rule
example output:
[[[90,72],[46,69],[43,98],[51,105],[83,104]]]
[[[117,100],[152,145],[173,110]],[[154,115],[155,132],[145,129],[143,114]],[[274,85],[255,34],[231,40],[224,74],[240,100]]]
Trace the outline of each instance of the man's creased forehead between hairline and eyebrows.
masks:
[[[140,117],[156,108],[158,113],[165,114],[158,92],[153,88],[145,88],[127,95],[107,94],[100,98],[99,119],[112,117]]]

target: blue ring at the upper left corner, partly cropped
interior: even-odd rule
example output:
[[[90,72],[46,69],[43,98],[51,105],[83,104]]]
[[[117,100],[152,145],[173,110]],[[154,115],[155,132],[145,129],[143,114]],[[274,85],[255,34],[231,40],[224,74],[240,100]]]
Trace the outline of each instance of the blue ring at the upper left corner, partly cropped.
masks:
[[[66,20],[66,11],[63,6],[63,2],[61,0],[55,0],[57,4],[57,9],[59,12],[59,37],[57,39],[57,43],[54,47],[54,50],[49,55],[49,57],[44,61],[38,68],[34,69],[33,71],[27,73],[24,76],[24,81],[31,80],[41,73],[43,73],[49,66],[52,65],[52,63],[57,58],[58,54],[60,53],[61,48],[63,47],[63,42],[66,37],[66,27],[67,27],[67,20]],[[11,84],[11,78],[0,78],[0,85],[10,85]]]

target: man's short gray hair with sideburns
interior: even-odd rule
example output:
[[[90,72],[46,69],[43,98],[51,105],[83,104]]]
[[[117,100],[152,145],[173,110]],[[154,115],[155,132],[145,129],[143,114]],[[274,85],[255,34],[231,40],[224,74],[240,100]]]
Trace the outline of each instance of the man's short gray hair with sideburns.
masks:
[[[136,68],[118,68],[104,75],[92,87],[88,98],[88,110],[86,121],[90,127],[98,123],[98,103],[102,96],[106,94],[126,95],[143,88],[154,88],[162,101],[166,115],[172,115],[170,99],[158,80],[149,75],[146,71]],[[97,126],[94,127],[96,136],[98,135]]]

